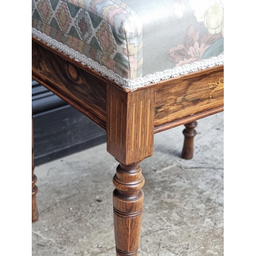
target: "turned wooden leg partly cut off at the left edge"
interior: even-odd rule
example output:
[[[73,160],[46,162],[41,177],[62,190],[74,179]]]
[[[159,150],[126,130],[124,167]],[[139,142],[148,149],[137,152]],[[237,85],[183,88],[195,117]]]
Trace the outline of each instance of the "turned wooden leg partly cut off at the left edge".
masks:
[[[35,195],[38,191],[36,183],[36,176],[34,175],[34,132],[33,132],[33,118],[32,118],[32,222],[38,220],[38,210],[36,205]]]

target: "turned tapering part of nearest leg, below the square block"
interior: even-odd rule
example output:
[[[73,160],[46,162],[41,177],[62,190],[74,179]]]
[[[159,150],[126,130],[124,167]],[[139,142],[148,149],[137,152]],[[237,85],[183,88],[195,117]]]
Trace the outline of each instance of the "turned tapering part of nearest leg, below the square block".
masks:
[[[144,178],[138,164],[122,165],[113,179],[114,226],[117,256],[136,256],[140,240]]]

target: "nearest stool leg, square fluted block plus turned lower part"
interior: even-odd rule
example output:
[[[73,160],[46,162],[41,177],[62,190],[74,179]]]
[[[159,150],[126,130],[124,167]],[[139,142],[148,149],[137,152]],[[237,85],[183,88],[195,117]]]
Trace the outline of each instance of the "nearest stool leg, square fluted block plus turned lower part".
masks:
[[[107,151],[120,163],[113,183],[117,256],[137,256],[144,178],[139,163],[153,154],[155,88],[134,92],[108,84]]]

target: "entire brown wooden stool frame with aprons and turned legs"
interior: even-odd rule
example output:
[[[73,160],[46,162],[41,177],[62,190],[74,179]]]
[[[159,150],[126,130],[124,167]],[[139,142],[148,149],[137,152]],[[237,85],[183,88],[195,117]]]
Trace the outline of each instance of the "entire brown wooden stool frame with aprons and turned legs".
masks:
[[[152,156],[155,133],[182,124],[182,157],[193,157],[196,120],[223,111],[223,90],[217,87],[224,66],[132,92],[34,37],[32,56],[32,77],[106,130],[107,151],[119,162],[113,179],[116,254],[137,255],[144,185],[139,163]],[[38,218],[35,182],[32,167],[32,221]]]

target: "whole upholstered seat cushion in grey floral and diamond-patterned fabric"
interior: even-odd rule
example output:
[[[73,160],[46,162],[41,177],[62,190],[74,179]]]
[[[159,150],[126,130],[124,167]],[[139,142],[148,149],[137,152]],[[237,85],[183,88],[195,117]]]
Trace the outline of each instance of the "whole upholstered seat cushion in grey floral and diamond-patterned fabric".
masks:
[[[138,79],[222,55],[223,12],[223,0],[32,0],[32,28]]]

